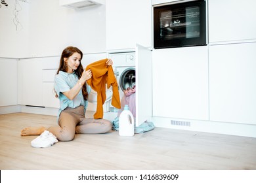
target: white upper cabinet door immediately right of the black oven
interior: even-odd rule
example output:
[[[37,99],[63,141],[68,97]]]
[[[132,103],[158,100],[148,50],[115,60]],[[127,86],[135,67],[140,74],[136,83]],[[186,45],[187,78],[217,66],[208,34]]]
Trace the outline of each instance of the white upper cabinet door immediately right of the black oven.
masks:
[[[210,43],[256,39],[256,1],[208,1]]]

